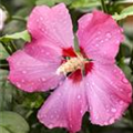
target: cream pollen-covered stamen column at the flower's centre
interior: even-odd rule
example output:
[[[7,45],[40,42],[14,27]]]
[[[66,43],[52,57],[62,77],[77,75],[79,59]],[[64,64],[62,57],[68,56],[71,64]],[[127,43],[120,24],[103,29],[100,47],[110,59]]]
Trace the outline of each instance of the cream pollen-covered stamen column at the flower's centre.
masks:
[[[58,68],[57,74],[61,74],[61,73],[68,74],[68,73],[76,71],[78,69],[83,69],[86,62],[88,61],[82,55],[71,58]]]

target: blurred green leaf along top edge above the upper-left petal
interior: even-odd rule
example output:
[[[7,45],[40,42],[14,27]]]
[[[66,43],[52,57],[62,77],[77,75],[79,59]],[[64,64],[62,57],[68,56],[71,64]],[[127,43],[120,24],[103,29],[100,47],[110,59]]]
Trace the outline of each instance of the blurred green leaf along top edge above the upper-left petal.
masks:
[[[65,4],[70,4],[73,0],[37,0],[35,4],[47,4],[47,6],[54,6],[55,3],[64,2]]]

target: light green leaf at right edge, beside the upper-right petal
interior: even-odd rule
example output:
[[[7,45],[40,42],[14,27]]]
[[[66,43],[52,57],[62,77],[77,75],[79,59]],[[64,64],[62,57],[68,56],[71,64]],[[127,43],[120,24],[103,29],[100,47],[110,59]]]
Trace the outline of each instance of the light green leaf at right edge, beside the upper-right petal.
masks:
[[[120,14],[115,13],[113,16],[113,18],[115,20],[122,20],[122,19],[125,19],[126,17],[130,17],[130,16],[133,16],[133,6],[125,8],[124,10],[121,11]]]

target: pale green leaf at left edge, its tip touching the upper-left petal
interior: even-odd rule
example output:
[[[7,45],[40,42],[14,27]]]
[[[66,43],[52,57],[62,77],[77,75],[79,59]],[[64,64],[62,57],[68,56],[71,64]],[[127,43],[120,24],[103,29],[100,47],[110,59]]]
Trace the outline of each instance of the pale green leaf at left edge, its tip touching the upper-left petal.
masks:
[[[13,33],[13,34],[6,34],[0,38],[0,41],[6,43],[6,42],[12,41],[12,40],[18,40],[18,39],[22,39],[23,41],[28,41],[28,42],[31,41],[31,37],[27,30],[24,30],[22,32]]]

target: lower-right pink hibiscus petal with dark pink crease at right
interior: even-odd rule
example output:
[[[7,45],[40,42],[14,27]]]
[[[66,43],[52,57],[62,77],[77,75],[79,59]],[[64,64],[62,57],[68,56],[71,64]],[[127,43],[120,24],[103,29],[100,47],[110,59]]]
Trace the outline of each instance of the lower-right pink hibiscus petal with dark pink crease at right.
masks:
[[[131,103],[132,86],[114,64],[94,65],[86,79],[91,122],[109,125],[120,119]]]

